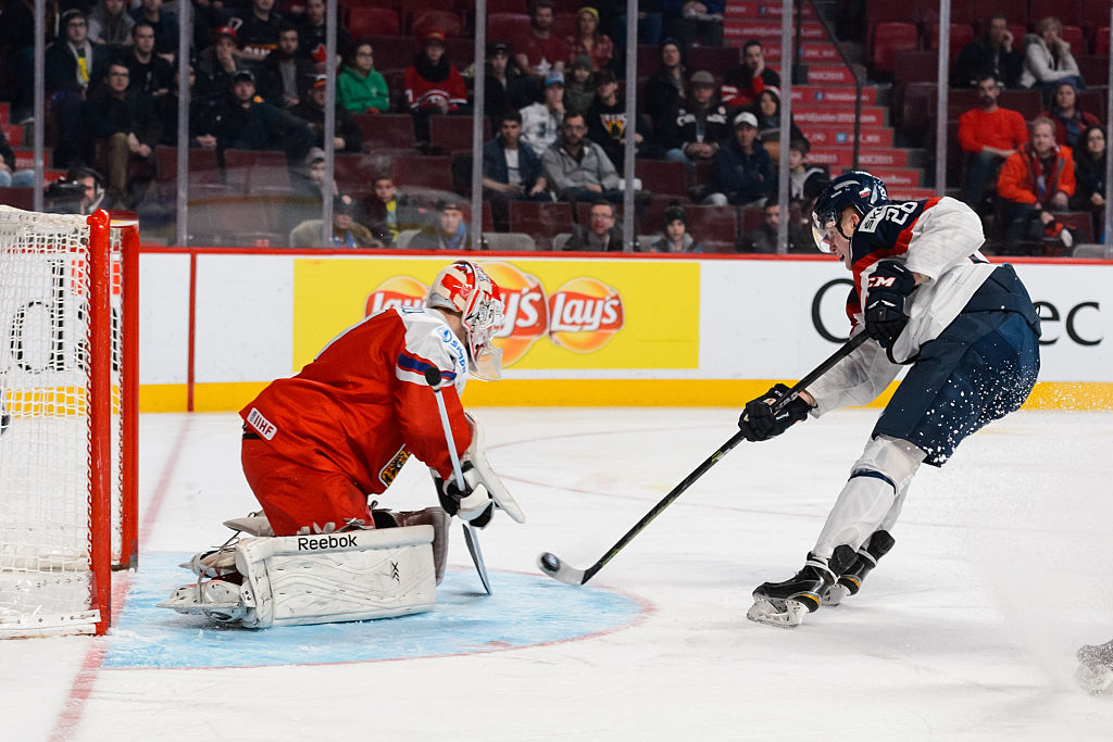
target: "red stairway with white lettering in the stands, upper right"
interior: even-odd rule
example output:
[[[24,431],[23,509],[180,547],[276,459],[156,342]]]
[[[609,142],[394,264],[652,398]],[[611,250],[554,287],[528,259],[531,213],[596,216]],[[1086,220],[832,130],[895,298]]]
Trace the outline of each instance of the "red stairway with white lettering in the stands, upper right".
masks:
[[[760,39],[766,63],[780,71],[780,12],[781,4],[776,0],[727,2],[725,41],[740,49],[747,39]],[[807,66],[808,79],[806,85],[792,88],[792,118],[811,142],[808,160],[838,174],[854,165],[854,72],[843,61],[837,40],[828,34],[811,4],[804,6],[802,17],[801,63]],[[889,89],[870,82],[861,89],[858,167],[884,179],[894,197],[928,198],[935,190],[925,180],[926,155],[922,149],[897,146],[889,123]]]

